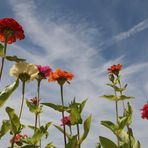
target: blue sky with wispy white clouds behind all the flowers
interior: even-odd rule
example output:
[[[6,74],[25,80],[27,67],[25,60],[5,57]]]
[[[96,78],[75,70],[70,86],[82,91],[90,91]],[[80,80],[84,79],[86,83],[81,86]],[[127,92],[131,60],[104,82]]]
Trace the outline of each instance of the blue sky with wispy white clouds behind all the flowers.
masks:
[[[71,71],[75,78],[64,88],[65,104],[74,97],[78,101],[88,98],[83,113],[85,119],[92,114],[92,125],[82,148],[95,147],[99,136],[114,136],[100,125],[101,120],[115,120],[114,104],[99,96],[111,93],[107,68],[123,65],[122,83],[128,83],[127,95],[134,96],[134,134],[147,147],[148,122],[141,119],[140,109],[148,98],[148,1],[147,0],[1,0],[0,18],[12,17],[24,28],[25,39],[8,46],[7,55],[17,55],[28,62],[49,65],[53,70]],[[13,63],[6,62],[1,89],[15,81],[9,76]],[[26,86],[26,98],[36,95],[36,82]],[[42,82],[43,102],[60,103],[56,83]],[[1,108],[0,120],[7,119],[6,106],[19,111],[21,85]],[[22,122],[33,124],[33,115],[25,106]],[[60,124],[61,115],[44,107],[42,123]],[[81,129],[81,133],[83,129]],[[23,131],[27,134],[29,130]],[[7,145],[9,135],[0,142]],[[62,135],[52,126],[48,140],[61,148]]]

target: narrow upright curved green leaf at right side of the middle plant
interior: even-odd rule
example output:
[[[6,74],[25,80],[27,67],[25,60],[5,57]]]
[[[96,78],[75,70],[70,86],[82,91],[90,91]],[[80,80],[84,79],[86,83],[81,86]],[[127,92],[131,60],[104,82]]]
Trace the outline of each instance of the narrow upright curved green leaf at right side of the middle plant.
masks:
[[[86,120],[84,121],[84,125],[83,125],[83,128],[84,128],[84,133],[82,135],[82,137],[80,138],[80,144],[86,139],[88,133],[89,133],[89,130],[90,130],[90,125],[91,125],[91,115],[88,116],[86,118]]]

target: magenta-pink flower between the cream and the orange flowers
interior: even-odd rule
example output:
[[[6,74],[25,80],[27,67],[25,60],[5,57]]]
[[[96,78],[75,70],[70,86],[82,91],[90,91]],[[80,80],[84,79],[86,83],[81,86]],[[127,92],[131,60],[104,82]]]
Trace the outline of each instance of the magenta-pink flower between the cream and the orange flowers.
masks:
[[[41,79],[46,79],[47,77],[49,77],[50,72],[51,72],[51,68],[49,66],[41,66],[41,65],[36,65],[38,68],[38,75],[39,78]]]

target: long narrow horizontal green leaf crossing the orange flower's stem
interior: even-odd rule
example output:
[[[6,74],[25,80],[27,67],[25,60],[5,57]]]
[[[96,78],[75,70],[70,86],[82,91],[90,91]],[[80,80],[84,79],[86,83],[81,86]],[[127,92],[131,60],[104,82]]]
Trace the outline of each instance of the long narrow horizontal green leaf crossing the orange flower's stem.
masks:
[[[50,107],[50,108],[52,108],[56,111],[59,111],[59,112],[67,111],[67,109],[68,109],[68,107],[66,107],[66,106],[63,107],[62,105],[55,105],[53,103],[41,103],[41,104],[43,104],[47,107]]]

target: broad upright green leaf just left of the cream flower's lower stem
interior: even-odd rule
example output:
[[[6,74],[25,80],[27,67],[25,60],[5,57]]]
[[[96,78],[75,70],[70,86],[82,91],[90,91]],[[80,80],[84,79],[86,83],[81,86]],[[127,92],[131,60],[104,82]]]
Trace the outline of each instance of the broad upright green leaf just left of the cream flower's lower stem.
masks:
[[[13,134],[17,134],[21,128],[19,118],[15,114],[14,109],[10,107],[6,107],[6,112],[8,113],[10,119],[11,131],[13,132]]]

